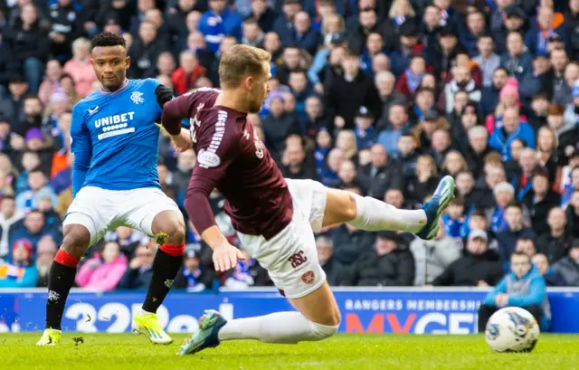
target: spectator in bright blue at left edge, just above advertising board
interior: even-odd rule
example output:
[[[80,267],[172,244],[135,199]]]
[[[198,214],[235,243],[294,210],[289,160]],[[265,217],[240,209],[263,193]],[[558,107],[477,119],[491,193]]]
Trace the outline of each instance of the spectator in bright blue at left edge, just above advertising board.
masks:
[[[12,245],[11,261],[0,264],[0,288],[33,288],[38,272],[32,264],[33,246],[17,240]]]

